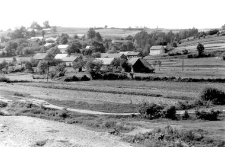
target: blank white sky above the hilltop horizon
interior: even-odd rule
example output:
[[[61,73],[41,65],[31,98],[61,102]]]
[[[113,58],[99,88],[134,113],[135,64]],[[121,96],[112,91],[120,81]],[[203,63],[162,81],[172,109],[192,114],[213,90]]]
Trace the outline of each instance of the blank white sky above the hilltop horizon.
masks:
[[[0,29],[46,20],[64,27],[219,28],[225,0],[0,0]]]

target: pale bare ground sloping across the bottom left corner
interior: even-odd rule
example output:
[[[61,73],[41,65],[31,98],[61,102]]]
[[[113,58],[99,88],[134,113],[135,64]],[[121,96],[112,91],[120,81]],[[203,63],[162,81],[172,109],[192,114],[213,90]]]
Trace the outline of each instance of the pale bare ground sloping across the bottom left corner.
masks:
[[[0,147],[131,147],[119,137],[76,125],[31,118],[0,116]]]

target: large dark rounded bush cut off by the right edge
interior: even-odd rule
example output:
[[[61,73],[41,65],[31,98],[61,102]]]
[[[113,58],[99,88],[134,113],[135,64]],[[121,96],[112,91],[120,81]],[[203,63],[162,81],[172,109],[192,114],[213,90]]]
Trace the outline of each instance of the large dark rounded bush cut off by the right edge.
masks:
[[[205,88],[202,91],[200,98],[203,101],[212,101],[213,104],[225,104],[225,92],[212,87]]]

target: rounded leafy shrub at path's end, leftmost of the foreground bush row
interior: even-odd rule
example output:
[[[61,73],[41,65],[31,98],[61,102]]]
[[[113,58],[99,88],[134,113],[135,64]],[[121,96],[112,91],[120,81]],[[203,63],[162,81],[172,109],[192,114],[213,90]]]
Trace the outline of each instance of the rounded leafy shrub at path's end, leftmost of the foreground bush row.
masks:
[[[162,110],[163,110],[163,106],[161,105],[157,105],[155,103],[151,103],[151,104],[147,104],[144,103],[139,112],[141,114],[142,117],[144,118],[148,118],[148,119],[154,119],[154,118],[159,118],[162,116]]]

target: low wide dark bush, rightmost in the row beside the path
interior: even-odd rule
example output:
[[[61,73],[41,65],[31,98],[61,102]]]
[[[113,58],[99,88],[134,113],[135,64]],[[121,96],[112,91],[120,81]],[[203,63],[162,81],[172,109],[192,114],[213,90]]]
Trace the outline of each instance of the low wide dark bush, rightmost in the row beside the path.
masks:
[[[211,109],[210,112],[206,111],[195,111],[195,115],[198,119],[204,119],[204,120],[218,120],[218,116],[220,114],[220,111],[214,111]]]

